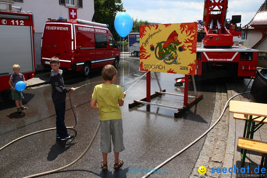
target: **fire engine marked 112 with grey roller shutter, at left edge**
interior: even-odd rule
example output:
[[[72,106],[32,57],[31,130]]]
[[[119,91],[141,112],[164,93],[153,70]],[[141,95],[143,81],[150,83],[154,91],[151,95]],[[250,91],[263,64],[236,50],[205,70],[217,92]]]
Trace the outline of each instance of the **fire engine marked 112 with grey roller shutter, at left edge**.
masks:
[[[20,13],[21,7],[9,3],[0,5],[0,91],[3,91],[10,88],[8,81],[14,74],[14,64],[20,65],[25,80],[34,77],[34,22],[32,12]]]

